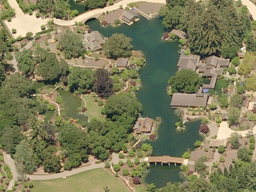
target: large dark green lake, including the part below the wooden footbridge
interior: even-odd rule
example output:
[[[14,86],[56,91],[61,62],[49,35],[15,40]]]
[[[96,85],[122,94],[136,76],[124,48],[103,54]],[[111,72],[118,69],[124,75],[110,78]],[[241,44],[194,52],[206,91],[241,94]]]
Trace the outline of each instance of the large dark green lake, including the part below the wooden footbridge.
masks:
[[[98,30],[105,37],[110,37],[113,33],[123,33],[132,38],[131,44],[134,50],[142,50],[145,54],[147,64],[139,71],[143,87],[137,95],[143,105],[142,115],[162,118],[158,139],[146,141],[153,146],[153,156],[181,157],[187,148],[193,150],[195,141],[203,139],[199,135],[200,121],[185,124],[186,130],[183,133],[176,131],[174,124],[180,119],[174,116],[174,109],[170,108],[171,98],[166,93],[166,87],[170,76],[177,71],[180,47],[178,41],[161,40],[165,32],[162,19],[155,18],[148,21],[141,17],[139,22],[131,26],[123,24],[118,27],[102,27],[98,20],[91,20],[86,25],[92,30]],[[169,181],[182,181],[184,177],[181,178],[179,173],[178,166],[151,165],[150,172],[144,180],[147,183],[154,183],[156,187],[162,187]]]

